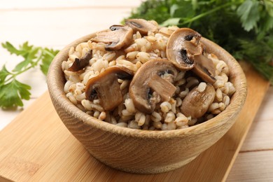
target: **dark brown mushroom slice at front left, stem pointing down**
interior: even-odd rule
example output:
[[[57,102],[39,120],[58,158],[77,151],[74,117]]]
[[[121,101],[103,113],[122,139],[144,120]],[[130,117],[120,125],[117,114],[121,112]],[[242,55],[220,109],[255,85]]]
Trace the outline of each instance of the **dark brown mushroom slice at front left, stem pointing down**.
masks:
[[[111,111],[123,102],[123,94],[120,90],[118,78],[126,80],[132,79],[133,72],[125,67],[109,67],[98,76],[88,80],[85,96],[92,101],[99,98],[99,104],[105,111]]]

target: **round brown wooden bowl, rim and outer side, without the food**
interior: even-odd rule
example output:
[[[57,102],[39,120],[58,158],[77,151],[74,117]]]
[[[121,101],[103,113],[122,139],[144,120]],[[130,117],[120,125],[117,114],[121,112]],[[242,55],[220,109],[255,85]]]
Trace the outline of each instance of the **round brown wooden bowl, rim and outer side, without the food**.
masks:
[[[223,48],[202,38],[230,68],[230,80],[236,92],[230,105],[215,118],[183,130],[145,131],[118,127],[93,118],[71,104],[64,93],[62,62],[69,48],[90,40],[96,34],[79,38],[61,50],[50,65],[48,90],[62,122],[97,160],[125,172],[154,174],[186,165],[223,137],[235,123],[246,99],[246,78],[241,66]]]

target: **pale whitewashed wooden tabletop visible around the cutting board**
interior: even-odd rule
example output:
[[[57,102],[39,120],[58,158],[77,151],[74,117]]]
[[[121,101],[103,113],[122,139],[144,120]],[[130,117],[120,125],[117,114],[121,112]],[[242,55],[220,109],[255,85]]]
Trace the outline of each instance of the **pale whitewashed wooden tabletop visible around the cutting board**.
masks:
[[[13,45],[29,41],[36,46],[61,49],[71,41],[119,24],[141,0],[0,0],[0,43]],[[22,60],[0,46],[0,67],[7,69]],[[18,76],[31,85],[27,109],[46,90],[45,76],[37,68]],[[1,90],[0,90],[1,92]],[[0,109],[0,131],[23,110]],[[273,181],[273,87],[269,88],[241,151],[235,160],[228,181]]]

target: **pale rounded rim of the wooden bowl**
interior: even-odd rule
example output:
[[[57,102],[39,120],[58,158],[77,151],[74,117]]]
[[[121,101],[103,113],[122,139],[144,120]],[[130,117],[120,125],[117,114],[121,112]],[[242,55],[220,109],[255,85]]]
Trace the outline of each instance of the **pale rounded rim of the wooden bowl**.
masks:
[[[236,85],[236,92],[232,95],[229,106],[225,109],[225,111],[221,112],[214,118],[207,120],[204,123],[200,123],[198,125],[194,125],[188,128],[184,128],[181,130],[167,130],[167,131],[151,131],[151,130],[137,130],[131,129],[128,127],[120,127],[113,125],[111,123],[106,123],[104,121],[98,120],[87,113],[81,111],[72,104],[69,99],[66,97],[64,93],[64,73],[62,71],[62,62],[67,60],[68,52],[71,46],[76,46],[78,43],[86,42],[90,40],[96,33],[88,34],[81,38],[78,38],[76,41],[69,43],[66,45],[59,53],[55,56],[50,64],[50,68],[48,70],[48,91],[50,93],[50,98],[52,100],[53,105],[55,106],[55,102],[59,104],[59,106],[64,109],[66,113],[69,113],[70,116],[73,116],[80,120],[85,125],[90,125],[90,127],[94,127],[98,130],[104,130],[105,132],[111,132],[113,134],[120,134],[127,137],[137,137],[137,138],[156,138],[156,139],[169,139],[174,137],[185,137],[192,133],[197,133],[202,130],[209,130],[211,127],[221,127],[225,123],[227,123],[230,118],[237,117],[239,111],[241,111],[244,106],[244,102],[246,101],[246,77],[244,75],[244,71],[241,69],[241,66],[237,62],[237,60],[230,55],[229,52],[221,48],[221,46],[216,43],[209,41],[207,38],[202,37],[202,43],[208,48],[214,48],[217,52],[223,54],[223,61],[228,64],[228,66],[232,69],[230,72],[230,76],[232,78],[232,82]],[[215,53],[215,52],[213,52]],[[219,53],[218,53],[219,54]],[[216,55],[218,56],[216,53]],[[235,72],[234,72],[235,71]],[[60,77],[63,77],[60,79]],[[239,86],[238,86],[239,85]],[[221,122],[219,122],[221,120]],[[64,123],[64,121],[62,121]],[[65,124],[65,123],[64,123]]]

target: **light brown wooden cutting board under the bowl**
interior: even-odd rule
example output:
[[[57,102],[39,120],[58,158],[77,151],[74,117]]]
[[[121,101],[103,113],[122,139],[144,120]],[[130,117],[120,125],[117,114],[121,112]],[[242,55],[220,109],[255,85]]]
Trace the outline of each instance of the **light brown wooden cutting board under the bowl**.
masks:
[[[66,129],[45,92],[0,132],[0,181],[225,181],[269,83],[242,62],[248,96],[235,125],[188,165],[129,174],[98,162]]]

